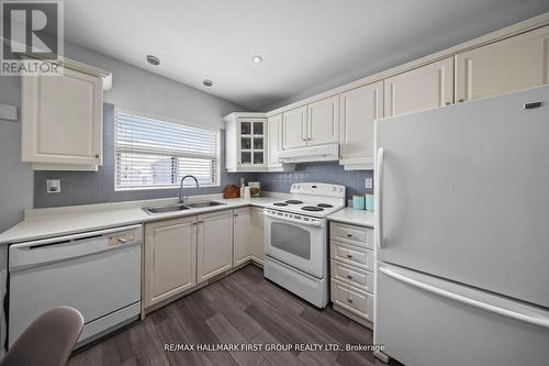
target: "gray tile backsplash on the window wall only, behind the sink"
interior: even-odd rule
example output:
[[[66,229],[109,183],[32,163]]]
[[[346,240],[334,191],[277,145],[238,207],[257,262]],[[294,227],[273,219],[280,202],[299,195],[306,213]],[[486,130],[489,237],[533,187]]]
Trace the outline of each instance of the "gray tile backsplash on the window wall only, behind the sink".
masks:
[[[221,135],[221,186],[204,187],[200,190],[186,188],[186,195],[219,193],[225,185],[237,185],[239,178],[253,179],[254,175],[227,174],[225,169],[225,131]],[[59,193],[46,192],[46,179],[60,179]],[[35,171],[34,207],[59,207],[120,202],[131,200],[177,197],[179,189],[145,189],[114,191],[114,106],[105,103],[103,108],[103,166],[96,171]]]

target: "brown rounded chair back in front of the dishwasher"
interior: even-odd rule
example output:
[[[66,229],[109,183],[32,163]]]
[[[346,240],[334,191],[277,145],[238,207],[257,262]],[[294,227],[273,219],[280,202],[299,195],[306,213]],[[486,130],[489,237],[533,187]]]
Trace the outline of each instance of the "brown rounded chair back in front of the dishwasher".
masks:
[[[83,328],[76,309],[54,308],[40,315],[10,347],[0,366],[64,366]]]

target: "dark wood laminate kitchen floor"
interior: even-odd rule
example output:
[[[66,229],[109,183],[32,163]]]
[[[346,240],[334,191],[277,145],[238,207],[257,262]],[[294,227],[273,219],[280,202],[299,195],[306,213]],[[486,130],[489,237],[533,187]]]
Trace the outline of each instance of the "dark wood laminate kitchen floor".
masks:
[[[249,265],[77,353],[70,365],[385,365],[371,352],[165,352],[170,343],[371,344],[372,332],[314,308]]]

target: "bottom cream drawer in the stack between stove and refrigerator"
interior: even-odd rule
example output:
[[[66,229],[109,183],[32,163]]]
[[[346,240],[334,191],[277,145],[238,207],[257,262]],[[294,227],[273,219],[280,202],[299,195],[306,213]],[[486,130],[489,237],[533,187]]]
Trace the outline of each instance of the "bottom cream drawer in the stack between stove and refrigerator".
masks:
[[[332,301],[359,317],[373,322],[373,296],[332,279]]]

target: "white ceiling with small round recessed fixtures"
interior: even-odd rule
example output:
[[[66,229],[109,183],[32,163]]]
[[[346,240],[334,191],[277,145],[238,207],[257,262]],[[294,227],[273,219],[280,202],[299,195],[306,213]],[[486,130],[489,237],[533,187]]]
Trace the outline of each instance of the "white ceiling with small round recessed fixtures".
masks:
[[[546,11],[548,0],[68,0],[65,35],[265,110]]]

